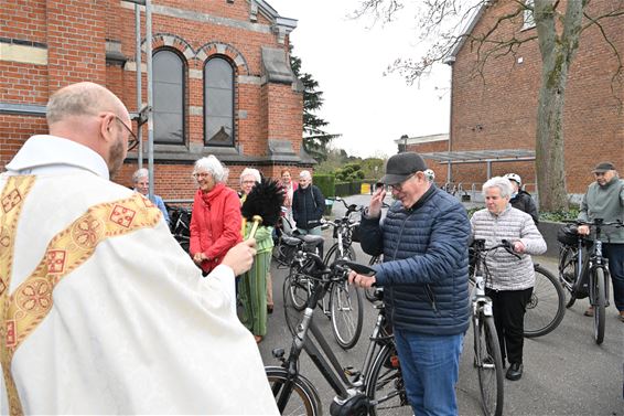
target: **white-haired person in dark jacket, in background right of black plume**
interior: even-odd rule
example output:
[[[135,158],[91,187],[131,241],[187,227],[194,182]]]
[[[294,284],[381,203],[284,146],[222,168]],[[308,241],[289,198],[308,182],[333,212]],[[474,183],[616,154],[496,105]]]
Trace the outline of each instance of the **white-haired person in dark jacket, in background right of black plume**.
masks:
[[[310,171],[299,173],[299,188],[292,193],[292,217],[301,234],[321,235],[320,220],[325,211],[325,196],[312,184]]]

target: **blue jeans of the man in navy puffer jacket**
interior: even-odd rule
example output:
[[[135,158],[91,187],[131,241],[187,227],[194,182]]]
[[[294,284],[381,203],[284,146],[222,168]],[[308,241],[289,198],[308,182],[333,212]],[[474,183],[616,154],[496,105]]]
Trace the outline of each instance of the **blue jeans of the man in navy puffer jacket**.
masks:
[[[456,415],[463,334],[426,335],[395,328],[409,404],[415,415]]]

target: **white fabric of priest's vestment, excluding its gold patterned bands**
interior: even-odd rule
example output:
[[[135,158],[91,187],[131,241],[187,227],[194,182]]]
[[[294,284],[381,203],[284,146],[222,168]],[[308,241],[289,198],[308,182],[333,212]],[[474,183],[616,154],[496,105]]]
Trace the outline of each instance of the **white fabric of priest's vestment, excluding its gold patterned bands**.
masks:
[[[10,294],[50,241],[103,202],[133,192],[73,141],[35,136],[0,175],[34,174],[17,225]],[[2,211],[0,210],[0,215]],[[25,414],[277,414],[254,337],[234,305],[234,273],[207,278],[165,223],[101,241],[52,292],[14,352]],[[8,413],[0,374],[1,412]]]

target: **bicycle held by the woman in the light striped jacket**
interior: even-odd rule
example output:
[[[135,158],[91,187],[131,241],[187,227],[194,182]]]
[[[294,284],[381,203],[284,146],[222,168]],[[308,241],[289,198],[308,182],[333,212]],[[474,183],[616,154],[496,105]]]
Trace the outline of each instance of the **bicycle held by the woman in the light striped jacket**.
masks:
[[[484,274],[484,269],[487,254],[498,248],[505,248],[514,254],[507,242],[485,248],[485,239],[475,239],[473,243],[474,275],[470,275],[474,285],[471,294],[471,313],[474,337],[474,366],[478,375],[481,405],[485,415],[496,416],[503,414],[504,406],[503,359],[494,324],[492,299],[485,296],[487,275]]]

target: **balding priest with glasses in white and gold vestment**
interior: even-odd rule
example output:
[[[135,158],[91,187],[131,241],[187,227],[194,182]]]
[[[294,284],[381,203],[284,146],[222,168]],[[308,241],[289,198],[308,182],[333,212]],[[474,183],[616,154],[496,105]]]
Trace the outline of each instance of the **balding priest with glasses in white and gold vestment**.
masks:
[[[136,137],[105,87],[57,90],[47,124],[0,174],[0,413],[276,414],[233,308],[255,242],[202,278],[162,213],[109,181]]]

